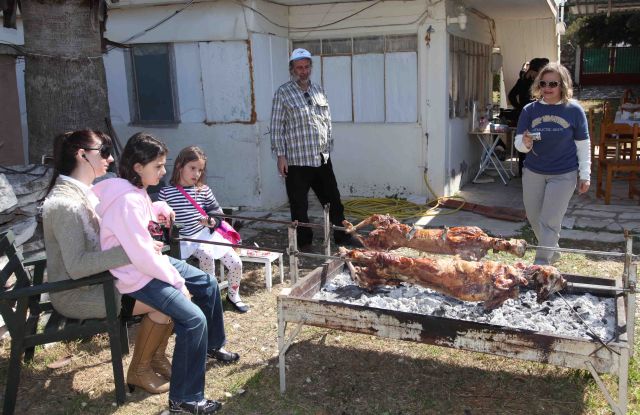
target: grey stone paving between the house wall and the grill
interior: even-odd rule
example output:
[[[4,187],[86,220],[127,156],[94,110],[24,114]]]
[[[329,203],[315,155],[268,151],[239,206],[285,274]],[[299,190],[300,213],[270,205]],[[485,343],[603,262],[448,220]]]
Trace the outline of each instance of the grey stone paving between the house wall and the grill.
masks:
[[[594,185],[585,195],[577,193],[571,199],[560,237],[569,240],[583,240],[596,242],[619,243],[623,242],[623,229],[635,230],[640,234],[640,206],[638,200],[626,198],[626,182],[615,182],[612,192],[612,204],[605,205],[602,198],[595,197]],[[459,195],[468,202],[487,206],[504,206],[516,209],[524,209],[522,204],[522,182],[520,178],[513,178],[508,185],[503,185],[499,180],[494,183],[466,184]],[[415,198],[424,202],[424,198]],[[309,216],[312,222],[322,223],[322,208],[315,196],[309,195]],[[419,226],[479,226],[492,235],[513,237],[526,225],[525,222],[508,222],[487,218],[467,211],[452,213],[450,209],[441,209],[435,216],[424,216],[415,221]],[[285,204],[272,211],[242,210],[239,215],[260,217],[269,215],[269,219],[290,220],[289,208]],[[286,232],[283,225],[253,222],[243,228],[245,239],[251,239],[259,230],[281,229]],[[320,235],[316,232],[316,235]],[[316,239],[319,236],[316,236]]]

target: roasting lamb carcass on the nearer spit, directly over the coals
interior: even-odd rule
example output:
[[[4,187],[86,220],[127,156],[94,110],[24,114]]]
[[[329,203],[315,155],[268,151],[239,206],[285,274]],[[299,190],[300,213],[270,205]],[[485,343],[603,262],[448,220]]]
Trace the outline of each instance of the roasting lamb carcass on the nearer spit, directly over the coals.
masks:
[[[514,266],[493,261],[461,259],[409,258],[388,252],[340,249],[348,263],[351,276],[361,287],[417,284],[462,301],[482,301],[493,309],[509,298],[516,298],[519,287],[531,284],[538,302],[560,291],[566,282],[551,266],[517,263]]]

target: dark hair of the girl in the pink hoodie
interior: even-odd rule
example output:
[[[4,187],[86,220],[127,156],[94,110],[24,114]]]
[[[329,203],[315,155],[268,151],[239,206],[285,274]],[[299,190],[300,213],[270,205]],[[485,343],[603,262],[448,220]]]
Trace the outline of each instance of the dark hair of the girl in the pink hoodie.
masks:
[[[118,175],[128,180],[132,185],[142,189],[144,187],[142,178],[134,170],[133,166],[136,163],[146,166],[158,157],[166,156],[167,153],[169,153],[167,146],[151,134],[135,133],[129,138],[124,150],[122,150]]]

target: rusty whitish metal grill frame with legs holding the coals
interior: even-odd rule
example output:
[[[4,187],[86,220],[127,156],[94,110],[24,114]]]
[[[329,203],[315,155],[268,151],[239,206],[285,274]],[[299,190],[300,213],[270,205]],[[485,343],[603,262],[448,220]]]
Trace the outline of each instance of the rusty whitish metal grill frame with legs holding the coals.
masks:
[[[558,336],[532,330],[515,329],[487,323],[457,320],[438,316],[406,313],[360,305],[345,304],[327,300],[314,300],[312,297],[327,280],[342,271],[344,262],[333,260],[326,262],[306,276],[299,279],[290,288],[284,288],[278,296],[278,350],[280,359],[280,392],[286,391],[284,373],[287,349],[303,325],[350,331],[375,335],[397,340],[407,340],[449,347],[459,350],[487,353],[497,356],[552,364],[574,369],[589,369],[597,377],[598,373],[616,374],[619,378],[619,396],[626,411],[626,389],[629,357],[633,353],[634,321],[627,324],[628,293],[616,297],[616,335],[608,343],[609,349],[595,340]],[[623,288],[623,278],[605,279],[579,275],[565,275],[574,283],[596,287]],[[604,296],[603,290],[573,289],[571,293],[591,292]],[[604,290],[606,291],[606,289]],[[287,325],[295,323],[296,328],[286,337]],[[592,370],[593,369],[593,370]],[[600,386],[600,382],[598,382]],[[603,389],[604,385],[601,386]],[[603,389],[608,395],[606,389]],[[624,402],[622,402],[624,394]],[[607,398],[610,404],[612,401]],[[613,407],[613,404],[612,404]],[[624,413],[621,408],[613,407],[614,412]]]

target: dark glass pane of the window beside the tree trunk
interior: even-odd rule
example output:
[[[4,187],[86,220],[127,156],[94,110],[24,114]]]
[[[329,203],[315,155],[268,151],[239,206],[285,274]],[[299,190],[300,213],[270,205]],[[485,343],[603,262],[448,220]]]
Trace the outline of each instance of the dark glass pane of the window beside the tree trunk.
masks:
[[[175,121],[169,45],[133,47],[139,121]]]

